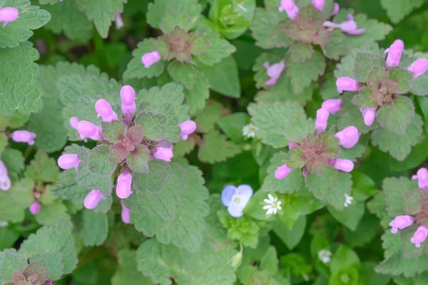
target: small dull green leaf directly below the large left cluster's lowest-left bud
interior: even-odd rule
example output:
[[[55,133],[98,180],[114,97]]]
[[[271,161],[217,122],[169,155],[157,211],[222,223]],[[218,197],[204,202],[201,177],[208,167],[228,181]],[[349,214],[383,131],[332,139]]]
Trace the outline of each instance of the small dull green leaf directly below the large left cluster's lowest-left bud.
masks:
[[[107,215],[84,209],[78,224],[78,234],[83,238],[86,247],[100,246],[107,239]]]

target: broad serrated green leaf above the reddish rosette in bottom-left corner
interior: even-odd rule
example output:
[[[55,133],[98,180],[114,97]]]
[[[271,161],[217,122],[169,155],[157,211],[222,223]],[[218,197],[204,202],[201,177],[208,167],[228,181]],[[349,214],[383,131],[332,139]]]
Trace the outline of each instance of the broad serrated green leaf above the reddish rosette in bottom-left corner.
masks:
[[[29,258],[30,261],[44,258],[49,269],[50,280],[59,279],[61,274],[70,274],[76,268],[78,261],[72,229],[71,222],[63,219],[42,227],[36,234],[30,234],[29,238],[21,244],[19,254]],[[61,274],[54,275],[54,272],[58,272],[61,267],[63,267]]]

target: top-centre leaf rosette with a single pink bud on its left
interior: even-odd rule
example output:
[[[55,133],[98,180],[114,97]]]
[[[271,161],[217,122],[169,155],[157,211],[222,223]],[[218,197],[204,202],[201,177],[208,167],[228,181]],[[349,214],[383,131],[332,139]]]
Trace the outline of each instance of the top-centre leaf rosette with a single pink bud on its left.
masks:
[[[208,26],[196,26],[200,17],[201,6],[197,0],[170,2],[156,0],[148,5],[148,24],[153,28],[160,28],[163,36],[148,38],[138,44],[133,51],[133,59],[123,77],[153,78],[158,77],[161,84],[175,81],[184,86],[185,104],[194,113],[205,106],[205,100],[210,93],[209,88],[224,90],[223,82],[215,81],[220,77],[222,68],[216,71],[217,76],[205,74],[211,67],[221,66],[223,58],[235,52],[235,46],[220,38],[217,31]],[[141,58],[146,53],[158,51],[161,61],[146,68]],[[238,69],[233,58],[231,72],[237,85]],[[216,69],[213,69],[216,70]],[[238,84],[239,86],[239,84]],[[223,93],[223,92],[222,92]],[[225,95],[239,97],[239,88]]]

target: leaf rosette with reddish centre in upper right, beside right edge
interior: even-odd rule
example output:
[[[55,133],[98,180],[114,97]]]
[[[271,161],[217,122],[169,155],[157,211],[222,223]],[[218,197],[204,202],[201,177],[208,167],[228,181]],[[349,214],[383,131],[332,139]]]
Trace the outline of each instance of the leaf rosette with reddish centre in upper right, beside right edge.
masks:
[[[372,144],[396,160],[404,160],[414,145],[422,141],[423,121],[415,111],[410,93],[428,95],[427,75],[414,78],[407,68],[418,56],[405,51],[399,66],[387,68],[382,50],[377,46],[357,49],[345,56],[337,66],[335,76],[355,78],[363,86],[358,93],[345,92],[337,126],[352,123],[362,133],[371,133]],[[375,108],[372,125],[364,123],[360,110]]]

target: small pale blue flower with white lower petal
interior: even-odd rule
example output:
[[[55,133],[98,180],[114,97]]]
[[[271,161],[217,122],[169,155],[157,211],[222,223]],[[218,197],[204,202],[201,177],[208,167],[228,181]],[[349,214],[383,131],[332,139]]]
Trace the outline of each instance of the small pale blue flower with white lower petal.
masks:
[[[221,202],[228,207],[230,216],[239,218],[243,216],[243,209],[253,196],[253,188],[250,185],[226,186],[221,192]]]

